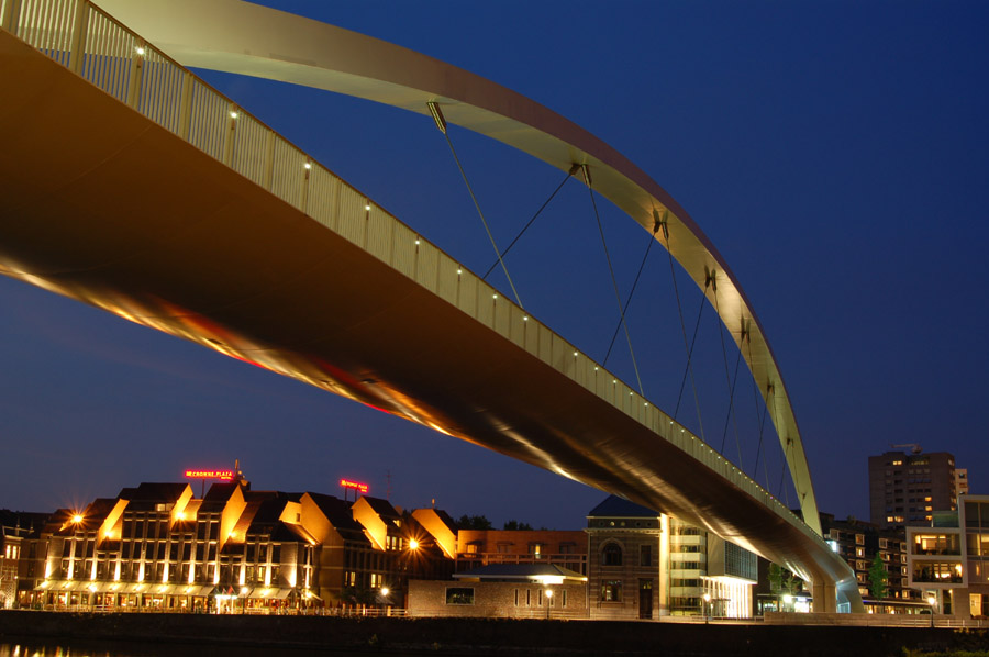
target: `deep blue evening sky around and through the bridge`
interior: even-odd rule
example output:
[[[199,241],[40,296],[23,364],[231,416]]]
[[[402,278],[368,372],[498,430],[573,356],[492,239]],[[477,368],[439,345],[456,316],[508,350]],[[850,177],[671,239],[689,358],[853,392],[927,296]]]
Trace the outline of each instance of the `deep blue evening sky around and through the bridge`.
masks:
[[[989,492],[989,3],[270,4],[526,94],[669,191],[756,308],[822,510],[867,517],[866,458],[890,443],[953,452],[974,492]],[[208,79],[471,269],[487,269],[490,245],[429,119],[276,82]],[[505,244],[562,175],[464,131],[452,137]],[[599,207],[624,293],[646,235],[607,201]],[[567,183],[509,266],[533,314],[603,358],[616,311],[586,188]],[[664,250],[653,250],[644,276],[631,330],[649,371],[646,394],[673,411],[685,355]],[[692,322],[699,292],[686,297]],[[345,476],[385,497],[390,470],[395,503],[435,499],[498,524],[576,528],[603,497],[21,282],[0,280],[0,508],[85,503],[234,458],[264,489],[333,493]],[[727,401],[709,310],[698,378],[718,446]],[[622,343],[609,366],[634,380]],[[752,470],[748,386],[737,407]],[[679,417],[698,430],[688,398]],[[731,431],[727,441],[734,457]]]

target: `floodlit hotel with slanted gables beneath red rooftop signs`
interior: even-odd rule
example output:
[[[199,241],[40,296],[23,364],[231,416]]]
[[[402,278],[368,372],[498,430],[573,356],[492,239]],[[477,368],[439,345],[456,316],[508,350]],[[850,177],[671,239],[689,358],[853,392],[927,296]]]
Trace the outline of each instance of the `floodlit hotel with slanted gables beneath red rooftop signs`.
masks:
[[[233,481],[196,499],[187,483],[142,483],[59,510],[24,537],[18,600],[257,613],[403,606],[409,579],[452,571],[426,536],[411,514],[375,498],[349,503]]]

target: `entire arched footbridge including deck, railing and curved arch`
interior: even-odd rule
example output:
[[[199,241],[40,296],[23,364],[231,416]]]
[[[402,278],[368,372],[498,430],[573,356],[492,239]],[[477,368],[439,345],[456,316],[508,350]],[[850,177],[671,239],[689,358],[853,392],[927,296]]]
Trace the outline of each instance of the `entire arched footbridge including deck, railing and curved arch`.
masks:
[[[237,0],[100,4],[123,23],[81,0],[0,0],[0,272],[667,511],[812,581],[823,610],[860,610],[852,570],[819,535],[758,321],[643,171],[524,97],[370,37]],[[666,223],[656,238],[718,296],[736,344],[751,341],[814,526],[179,63],[420,113],[436,102],[451,123],[563,170],[587,165],[651,233]]]

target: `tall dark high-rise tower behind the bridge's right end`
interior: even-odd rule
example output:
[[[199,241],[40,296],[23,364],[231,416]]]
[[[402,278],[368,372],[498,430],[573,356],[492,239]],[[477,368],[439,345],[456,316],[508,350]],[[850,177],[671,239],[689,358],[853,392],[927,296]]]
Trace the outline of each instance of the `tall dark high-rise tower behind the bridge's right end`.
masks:
[[[881,528],[930,524],[933,511],[957,509],[955,457],[947,452],[887,452],[869,457],[869,511]]]

